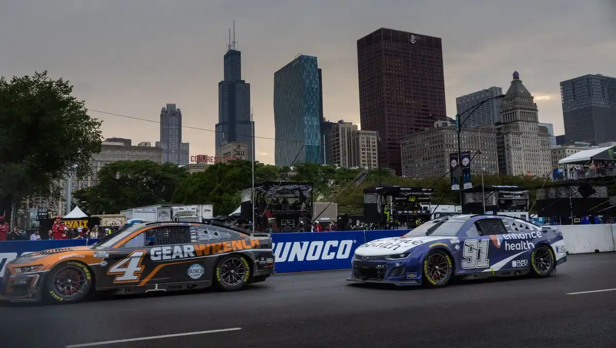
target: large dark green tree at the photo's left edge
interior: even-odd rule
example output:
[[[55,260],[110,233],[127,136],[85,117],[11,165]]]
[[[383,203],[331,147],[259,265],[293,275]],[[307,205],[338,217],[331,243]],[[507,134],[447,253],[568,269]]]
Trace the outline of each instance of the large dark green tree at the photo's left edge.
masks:
[[[80,178],[91,174],[101,122],[72,93],[47,71],[0,78],[0,215],[28,196],[59,197],[71,168]]]

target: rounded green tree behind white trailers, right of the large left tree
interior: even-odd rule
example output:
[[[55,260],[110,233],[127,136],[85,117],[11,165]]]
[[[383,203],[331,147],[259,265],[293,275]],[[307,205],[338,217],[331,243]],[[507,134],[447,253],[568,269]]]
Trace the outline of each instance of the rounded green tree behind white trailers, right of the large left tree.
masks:
[[[97,173],[97,184],[75,193],[91,214],[117,214],[123,209],[171,202],[176,187],[188,176],[172,163],[117,161]]]

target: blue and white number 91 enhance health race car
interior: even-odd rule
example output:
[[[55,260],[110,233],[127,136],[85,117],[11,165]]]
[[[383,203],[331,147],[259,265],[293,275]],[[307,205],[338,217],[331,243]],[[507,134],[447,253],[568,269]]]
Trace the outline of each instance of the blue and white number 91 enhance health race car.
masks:
[[[548,277],[565,261],[559,230],[516,217],[456,215],[359,246],[347,280],[439,287],[452,277]]]

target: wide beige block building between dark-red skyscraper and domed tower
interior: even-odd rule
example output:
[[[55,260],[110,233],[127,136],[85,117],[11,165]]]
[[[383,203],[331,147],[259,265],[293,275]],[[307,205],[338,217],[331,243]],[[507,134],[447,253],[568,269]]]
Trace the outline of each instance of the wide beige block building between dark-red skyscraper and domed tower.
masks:
[[[435,177],[449,171],[449,154],[458,152],[458,135],[455,121],[437,121],[434,127],[410,134],[400,139],[402,176]],[[471,163],[471,174],[498,174],[496,132],[492,128],[462,127],[461,151],[477,154]]]

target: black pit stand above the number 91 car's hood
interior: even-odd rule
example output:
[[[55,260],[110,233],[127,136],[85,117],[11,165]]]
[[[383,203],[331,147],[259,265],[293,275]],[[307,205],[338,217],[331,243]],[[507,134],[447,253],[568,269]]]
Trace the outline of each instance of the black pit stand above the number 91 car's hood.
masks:
[[[430,220],[429,207],[434,190],[400,185],[374,185],[363,190],[363,219],[367,223],[384,222],[390,226],[396,218],[400,227],[415,227]]]

